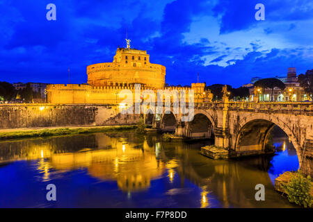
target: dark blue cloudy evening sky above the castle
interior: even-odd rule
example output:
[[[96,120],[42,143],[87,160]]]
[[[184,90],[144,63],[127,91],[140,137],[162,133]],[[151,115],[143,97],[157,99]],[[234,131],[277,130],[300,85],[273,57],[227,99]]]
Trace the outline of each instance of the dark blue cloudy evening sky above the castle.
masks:
[[[46,6],[56,4],[56,21]],[[255,5],[265,21],[255,20]],[[144,49],[166,83],[239,87],[254,76],[313,69],[312,0],[0,0],[0,81],[86,83],[86,66],[118,46]]]

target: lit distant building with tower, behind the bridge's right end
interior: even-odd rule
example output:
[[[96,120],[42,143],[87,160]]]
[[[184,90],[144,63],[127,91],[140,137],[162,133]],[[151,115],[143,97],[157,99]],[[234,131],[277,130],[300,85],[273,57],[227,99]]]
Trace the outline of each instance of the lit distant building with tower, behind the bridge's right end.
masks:
[[[251,83],[255,83],[255,77],[251,79]],[[273,89],[264,89],[264,96],[262,96],[263,89],[257,87],[249,87],[250,90],[250,101],[305,101],[309,99],[309,96],[305,94],[305,91],[298,83],[298,77],[296,74],[296,68],[288,68],[287,77],[286,76],[275,76],[272,78],[277,78],[284,83],[286,88],[284,90],[275,87]],[[259,78],[262,79],[262,78]],[[272,97],[271,97],[272,96]]]

